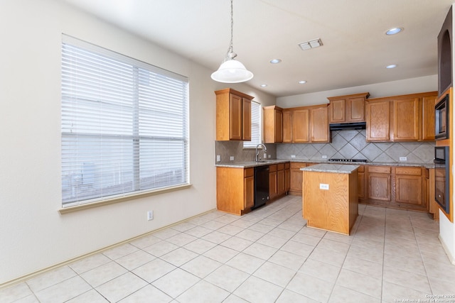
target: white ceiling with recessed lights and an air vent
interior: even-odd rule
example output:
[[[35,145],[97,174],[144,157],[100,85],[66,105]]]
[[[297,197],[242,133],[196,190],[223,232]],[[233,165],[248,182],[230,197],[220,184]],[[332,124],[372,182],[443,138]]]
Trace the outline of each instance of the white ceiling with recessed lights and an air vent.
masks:
[[[213,71],[229,47],[230,0],[63,1]],[[452,2],[235,0],[234,50],[255,74],[247,83],[275,97],[436,75],[437,35]],[[393,27],[405,30],[386,36]],[[314,38],[323,46],[299,48]]]

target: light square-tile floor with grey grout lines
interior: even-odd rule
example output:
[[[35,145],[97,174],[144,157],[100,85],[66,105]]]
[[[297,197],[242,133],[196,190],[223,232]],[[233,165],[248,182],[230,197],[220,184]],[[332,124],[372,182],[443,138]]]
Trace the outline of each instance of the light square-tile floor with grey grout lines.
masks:
[[[455,294],[437,221],[365,205],[359,214],[344,236],[306,227],[300,197],[245,216],[213,211],[0,290],[0,302],[429,302],[429,294]]]

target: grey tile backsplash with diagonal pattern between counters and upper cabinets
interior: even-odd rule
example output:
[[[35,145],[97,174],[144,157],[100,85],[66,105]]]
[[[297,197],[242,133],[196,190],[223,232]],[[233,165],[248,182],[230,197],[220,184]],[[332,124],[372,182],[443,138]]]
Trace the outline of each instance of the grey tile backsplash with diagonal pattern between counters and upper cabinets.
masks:
[[[383,142],[367,143],[365,130],[332,131],[331,143],[266,144],[267,155],[271,159],[324,160],[323,155],[330,158],[366,159],[368,162],[403,162],[400,157],[406,157],[406,162],[431,163],[434,158],[434,142]],[[221,162],[255,160],[254,149],[244,149],[242,142],[215,141],[216,155],[221,156]],[[262,152],[259,154],[262,155]]]

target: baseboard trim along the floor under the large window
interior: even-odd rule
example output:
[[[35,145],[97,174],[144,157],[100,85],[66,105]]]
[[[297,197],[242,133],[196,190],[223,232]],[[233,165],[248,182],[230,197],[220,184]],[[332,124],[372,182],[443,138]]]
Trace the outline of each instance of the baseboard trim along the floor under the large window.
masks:
[[[65,260],[65,261],[63,261],[63,262],[61,262],[61,263],[57,263],[57,264],[55,264],[55,265],[50,265],[50,266],[48,266],[47,268],[42,268],[41,270],[36,270],[35,272],[31,272],[31,273],[29,273],[29,274],[27,274],[27,275],[23,275],[23,276],[21,276],[21,277],[17,277],[17,278],[14,279],[14,280],[10,280],[10,281],[1,283],[1,284],[0,284],[0,290],[2,290],[2,289],[4,289],[4,288],[7,288],[7,287],[11,287],[11,286],[16,285],[16,284],[19,284],[19,283],[21,283],[21,282],[25,282],[26,280],[29,280],[29,279],[31,279],[31,278],[33,278],[33,277],[36,277],[36,276],[38,276],[38,275],[41,275],[41,274],[43,274],[43,273],[45,273],[45,272],[48,272],[48,271],[50,271],[50,270],[55,270],[56,268],[60,268],[61,266],[69,265],[69,264],[74,263],[74,262],[76,262],[76,261],[78,261],[78,260],[82,260],[83,258],[90,257],[91,255],[96,255],[97,253],[102,253],[103,251],[109,250],[109,249],[111,249],[111,248],[115,248],[115,247],[117,247],[117,246],[121,246],[121,245],[124,245],[124,244],[126,244],[126,243],[129,243],[129,242],[132,242],[132,241],[134,241],[134,240],[137,240],[137,239],[139,239],[139,238],[142,238],[142,237],[144,237],[144,236],[149,236],[149,235],[151,235],[151,234],[153,234],[153,233],[157,233],[157,232],[159,232],[159,231],[162,231],[163,229],[166,229],[166,228],[169,228],[169,227],[172,227],[172,226],[176,226],[176,225],[181,224],[181,223],[186,222],[186,221],[190,221],[190,220],[192,220],[192,219],[197,218],[198,216],[203,216],[203,215],[205,215],[205,214],[209,214],[209,213],[212,212],[212,211],[216,211],[216,209],[211,209],[211,210],[209,210],[209,211],[205,211],[205,212],[203,212],[202,214],[197,214],[196,216],[191,216],[190,218],[183,219],[183,220],[181,220],[181,221],[177,221],[176,223],[169,224],[169,225],[167,225],[167,226],[163,226],[163,227],[161,227],[161,228],[154,229],[153,231],[148,231],[148,232],[143,233],[143,234],[141,234],[141,235],[139,235],[139,236],[135,236],[135,237],[133,237],[133,238],[129,238],[129,239],[124,240],[124,241],[121,241],[121,242],[119,242],[119,243],[115,243],[115,244],[112,244],[112,245],[110,245],[110,246],[106,246],[106,247],[104,247],[104,248],[100,248],[100,249],[98,249],[98,250],[94,250],[94,251],[92,251],[92,252],[90,252],[90,253],[85,253],[84,255],[80,255],[80,256],[75,257],[75,258],[72,258],[72,259],[70,259],[70,260]]]

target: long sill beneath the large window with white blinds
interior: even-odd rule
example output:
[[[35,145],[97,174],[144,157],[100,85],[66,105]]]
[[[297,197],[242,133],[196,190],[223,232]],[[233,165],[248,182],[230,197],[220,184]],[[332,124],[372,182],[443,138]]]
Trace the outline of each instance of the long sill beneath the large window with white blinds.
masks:
[[[62,207],[61,209],[58,210],[58,212],[60,214],[68,214],[73,211],[82,211],[84,209],[92,209],[95,207],[105,206],[105,205],[109,205],[109,204],[115,204],[115,203],[124,202],[124,201],[132,200],[132,199],[154,196],[156,194],[164,194],[166,192],[176,192],[177,190],[188,189],[190,187],[191,187],[191,184],[184,184],[184,185],[179,185],[176,187],[157,189],[157,190],[154,190],[151,192],[140,192],[137,194],[129,194],[127,196],[115,197],[112,199],[106,199],[106,200],[102,200],[99,202],[92,202],[92,203],[80,204],[80,205],[75,205],[75,206]]]

